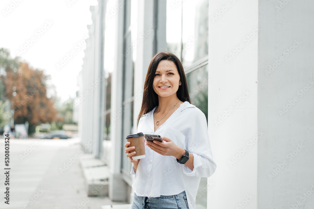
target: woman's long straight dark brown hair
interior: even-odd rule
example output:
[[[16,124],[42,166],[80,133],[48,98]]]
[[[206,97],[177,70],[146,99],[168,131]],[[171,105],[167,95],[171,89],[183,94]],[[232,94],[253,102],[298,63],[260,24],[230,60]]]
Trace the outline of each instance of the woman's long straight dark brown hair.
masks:
[[[146,74],[142,107],[141,107],[141,111],[138,114],[137,126],[138,126],[139,120],[141,119],[143,115],[153,110],[154,107],[158,106],[158,95],[153,89],[153,81],[154,81],[157,66],[161,60],[169,60],[169,61],[172,61],[176,65],[176,68],[180,75],[180,81],[181,81],[181,85],[179,85],[179,89],[176,92],[177,97],[183,102],[188,101],[189,103],[191,103],[189,90],[187,86],[187,79],[185,77],[183,66],[180,60],[176,57],[176,55],[170,52],[157,53],[155,54],[153,59],[150,61],[148,71]]]

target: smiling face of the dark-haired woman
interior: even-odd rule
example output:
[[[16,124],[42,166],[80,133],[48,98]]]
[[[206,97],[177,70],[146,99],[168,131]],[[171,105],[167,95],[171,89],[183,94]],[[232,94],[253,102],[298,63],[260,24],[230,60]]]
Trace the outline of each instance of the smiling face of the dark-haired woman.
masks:
[[[168,97],[176,94],[179,89],[180,75],[174,62],[161,60],[157,66],[153,89],[161,97]]]

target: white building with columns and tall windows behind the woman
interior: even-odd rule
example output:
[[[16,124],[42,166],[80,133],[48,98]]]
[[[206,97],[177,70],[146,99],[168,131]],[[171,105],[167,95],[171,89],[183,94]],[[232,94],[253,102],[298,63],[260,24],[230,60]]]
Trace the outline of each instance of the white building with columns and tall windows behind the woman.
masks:
[[[314,183],[314,26],[307,22],[314,3],[301,2],[99,0],[90,7],[75,103],[85,152],[109,167],[111,200],[132,198],[125,137],[137,133],[150,60],[169,51],[183,64],[191,103],[207,117],[218,165],[200,182],[197,208],[314,204],[295,192]],[[300,154],[287,159],[294,150]]]

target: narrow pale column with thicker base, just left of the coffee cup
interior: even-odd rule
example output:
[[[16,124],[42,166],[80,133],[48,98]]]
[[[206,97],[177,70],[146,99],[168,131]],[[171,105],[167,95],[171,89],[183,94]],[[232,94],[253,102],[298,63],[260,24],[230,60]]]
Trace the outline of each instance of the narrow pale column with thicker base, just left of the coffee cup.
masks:
[[[116,15],[115,23],[115,55],[114,55],[114,70],[111,77],[111,156],[110,157],[110,177],[109,177],[109,197],[113,201],[125,201],[127,199],[126,183],[121,175],[121,147],[122,140],[122,117],[118,114],[122,111],[122,67],[123,67],[123,19],[124,19],[124,4],[122,0],[116,0],[116,5],[119,7]],[[117,116],[116,116],[117,115]],[[124,141],[124,140],[123,140]]]

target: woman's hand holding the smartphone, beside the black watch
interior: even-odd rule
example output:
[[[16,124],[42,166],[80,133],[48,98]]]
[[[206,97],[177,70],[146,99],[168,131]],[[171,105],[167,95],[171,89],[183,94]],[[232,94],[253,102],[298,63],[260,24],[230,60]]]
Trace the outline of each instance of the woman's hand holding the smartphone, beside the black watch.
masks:
[[[149,146],[150,149],[159,153],[160,155],[168,155],[168,156],[182,156],[185,154],[185,150],[179,146],[177,146],[173,141],[169,138],[162,136],[161,139],[165,142],[160,142],[154,140],[154,142],[146,141],[145,145]],[[180,158],[179,157],[179,158]],[[178,159],[179,159],[178,158]]]

